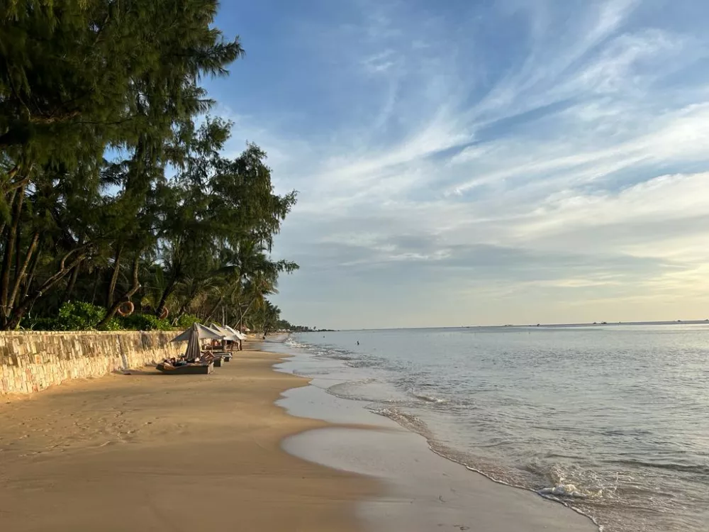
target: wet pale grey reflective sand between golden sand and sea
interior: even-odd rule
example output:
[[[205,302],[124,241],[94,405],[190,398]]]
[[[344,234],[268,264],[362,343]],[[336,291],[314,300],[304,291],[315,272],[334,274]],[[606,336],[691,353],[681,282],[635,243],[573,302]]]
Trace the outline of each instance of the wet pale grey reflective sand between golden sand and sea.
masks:
[[[306,355],[303,358],[307,360]],[[307,375],[297,359],[296,355],[284,360],[278,370]],[[499,482],[438,453],[425,435],[390,416],[365,409],[361,401],[328,393],[332,383],[313,382],[318,379],[313,375],[309,387],[286,392],[278,402],[292,415],[316,416],[335,427],[286,438],[284,448],[306,460],[384,482],[386,498],[359,503],[369,531],[445,530],[448,526],[466,530],[481,523],[481,529],[499,532],[520,526],[525,531],[601,529],[591,516],[564,501]],[[367,431],[340,428],[342,423],[352,422],[365,424]],[[387,449],[396,451],[388,453]],[[392,463],[396,466],[391,467]]]

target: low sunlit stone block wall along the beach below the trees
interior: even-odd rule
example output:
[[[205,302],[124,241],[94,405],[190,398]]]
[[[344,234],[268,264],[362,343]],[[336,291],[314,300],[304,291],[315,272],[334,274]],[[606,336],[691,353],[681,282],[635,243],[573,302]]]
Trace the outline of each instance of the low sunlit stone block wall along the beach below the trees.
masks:
[[[101,377],[182,353],[164,332],[1,332],[0,395],[31,394],[69,379]]]

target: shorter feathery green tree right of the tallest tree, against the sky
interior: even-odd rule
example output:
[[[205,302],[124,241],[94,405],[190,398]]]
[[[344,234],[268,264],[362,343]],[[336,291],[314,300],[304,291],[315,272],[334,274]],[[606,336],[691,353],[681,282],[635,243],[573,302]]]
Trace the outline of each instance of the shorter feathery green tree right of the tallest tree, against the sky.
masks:
[[[246,256],[243,250],[270,249],[274,234],[295,203],[295,192],[274,194],[266,155],[256,145],[248,145],[234,160],[219,154],[229,129],[229,123],[208,119],[186,144],[160,244],[169,282],[156,315],[162,314],[180,282],[199,276],[208,267],[221,264],[222,273],[235,274],[233,282],[239,282],[246,265],[240,263]],[[264,269],[292,271],[297,267],[286,262],[271,264],[261,260]]]

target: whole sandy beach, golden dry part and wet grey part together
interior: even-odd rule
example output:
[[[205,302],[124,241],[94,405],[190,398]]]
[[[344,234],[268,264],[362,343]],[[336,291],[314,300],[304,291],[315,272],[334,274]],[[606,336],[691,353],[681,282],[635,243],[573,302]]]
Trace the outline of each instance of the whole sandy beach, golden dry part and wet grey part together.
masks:
[[[596,530],[303,388],[258,345],[211,375],[146,368],[5,399],[0,531]]]

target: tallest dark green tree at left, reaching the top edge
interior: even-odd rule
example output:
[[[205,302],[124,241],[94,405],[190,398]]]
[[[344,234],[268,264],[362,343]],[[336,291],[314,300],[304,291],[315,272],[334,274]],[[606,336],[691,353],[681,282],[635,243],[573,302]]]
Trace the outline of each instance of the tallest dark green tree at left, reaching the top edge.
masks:
[[[226,41],[213,27],[216,7],[216,0],[0,6],[0,326],[18,326],[39,299],[62,299],[55,290],[67,276],[65,297],[87,270],[98,287],[105,270],[94,265],[105,257],[108,314],[135,293],[133,272],[158,236],[151,204],[158,183],[166,165],[182,163],[174,147],[211,105],[199,80],[225,74],[242,55],[238,39]],[[123,161],[105,162],[107,148]],[[109,182],[118,194],[102,190]],[[133,282],[116,298],[122,275]]]

